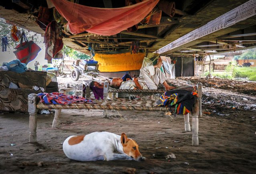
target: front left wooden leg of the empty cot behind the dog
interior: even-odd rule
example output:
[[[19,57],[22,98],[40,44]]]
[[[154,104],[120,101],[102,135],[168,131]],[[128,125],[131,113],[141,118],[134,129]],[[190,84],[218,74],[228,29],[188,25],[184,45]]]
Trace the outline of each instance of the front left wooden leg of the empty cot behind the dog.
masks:
[[[37,111],[36,104],[38,98],[36,94],[28,95],[28,112],[29,112],[29,142],[36,142],[36,127],[37,127]]]

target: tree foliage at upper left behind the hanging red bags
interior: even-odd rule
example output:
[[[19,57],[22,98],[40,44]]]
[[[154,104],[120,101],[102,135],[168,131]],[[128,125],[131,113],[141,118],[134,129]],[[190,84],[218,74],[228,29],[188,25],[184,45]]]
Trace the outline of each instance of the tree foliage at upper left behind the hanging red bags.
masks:
[[[26,29],[22,29],[19,26],[17,26],[17,29],[20,30],[20,32],[22,32],[22,30],[23,30],[28,40],[33,40],[37,44],[39,44],[41,42],[40,34],[30,32],[29,30],[26,30]],[[0,36],[1,36],[1,38],[4,36],[7,36],[7,39],[8,39],[7,47],[9,49],[16,47],[20,43],[20,41],[18,41],[18,42],[12,41],[11,30],[12,30],[12,25],[6,24],[6,21],[4,19],[0,18]]]

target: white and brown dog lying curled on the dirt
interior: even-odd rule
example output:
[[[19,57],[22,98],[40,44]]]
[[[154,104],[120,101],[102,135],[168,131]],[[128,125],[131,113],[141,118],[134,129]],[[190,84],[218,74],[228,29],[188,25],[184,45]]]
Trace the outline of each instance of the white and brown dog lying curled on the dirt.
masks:
[[[110,132],[69,136],[63,142],[63,151],[68,158],[79,161],[145,159],[139,152],[138,144],[127,138],[125,133],[121,136]]]

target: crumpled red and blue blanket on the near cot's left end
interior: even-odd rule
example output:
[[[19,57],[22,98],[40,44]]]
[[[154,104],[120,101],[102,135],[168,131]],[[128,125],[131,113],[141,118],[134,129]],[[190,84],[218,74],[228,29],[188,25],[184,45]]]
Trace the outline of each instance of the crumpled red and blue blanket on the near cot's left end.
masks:
[[[72,103],[95,103],[91,100],[87,100],[84,97],[75,95],[65,95],[62,93],[39,93],[37,94],[40,102],[45,104],[59,104],[59,105],[70,105]]]

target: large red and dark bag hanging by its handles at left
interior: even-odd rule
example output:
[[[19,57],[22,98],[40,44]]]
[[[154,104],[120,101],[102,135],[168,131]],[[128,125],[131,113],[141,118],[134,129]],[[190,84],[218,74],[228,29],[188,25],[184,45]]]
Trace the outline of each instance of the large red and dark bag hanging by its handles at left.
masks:
[[[24,42],[23,42],[24,41]],[[28,41],[24,32],[22,32],[22,38],[20,39],[20,44],[15,47],[16,51],[13,51],[17,59],[21,63],[28,64],[30,61],[34,60],[41,50],[41,48],[36,45],[32,40]]]

